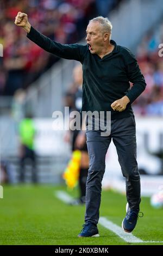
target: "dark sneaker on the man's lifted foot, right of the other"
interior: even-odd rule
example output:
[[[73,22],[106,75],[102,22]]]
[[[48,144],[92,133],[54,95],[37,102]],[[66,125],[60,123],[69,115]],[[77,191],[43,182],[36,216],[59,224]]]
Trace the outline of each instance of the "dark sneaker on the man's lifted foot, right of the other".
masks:
[[[128,203],[126,205],[126,211],[127,211],[127,214],[122,221],[122,228],[124,231],[130,233],[131,231],[134,230],[138,217],[143,217],[143,213],[140,212],[142,214],[142,216],[140,216],[139,210],[130,209]]]

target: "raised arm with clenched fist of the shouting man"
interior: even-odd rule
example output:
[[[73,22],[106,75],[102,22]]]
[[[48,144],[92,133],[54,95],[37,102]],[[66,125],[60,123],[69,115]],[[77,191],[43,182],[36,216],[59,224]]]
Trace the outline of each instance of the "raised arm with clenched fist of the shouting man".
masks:
[[[36,29],[30,25],[28,21],[28,15],[21,12],[18,12],[15,18],[15,25],[22,27],[28,33],[27,37],[35,42],[35,44],[43,48],[43,50],[53,53],[60,58],[74,59],[83,63],[83,59],[87,50],[86,45],[64,45],[49,39],[47,36],[42,35],[39,31],[36,31]]]

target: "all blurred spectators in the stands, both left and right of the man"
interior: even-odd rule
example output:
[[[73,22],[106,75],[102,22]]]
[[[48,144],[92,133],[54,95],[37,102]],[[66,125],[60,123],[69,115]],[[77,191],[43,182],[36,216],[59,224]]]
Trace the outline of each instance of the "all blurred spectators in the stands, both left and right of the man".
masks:
[[[26,32],[14,24],[18,11],[27,13],[29,22],[52,40],[71,44],[85,36],[92,17],[106,16],[120,0],[1,0],[0,1],[0,95],[14,95],[26,89],[58,57],[43,51],[26,38]],[[163,23],[139,42],[136,58],[145,76],[145,92],[134,102],[136,114],[163,115],[163,57],[158,45],[163,42]]]

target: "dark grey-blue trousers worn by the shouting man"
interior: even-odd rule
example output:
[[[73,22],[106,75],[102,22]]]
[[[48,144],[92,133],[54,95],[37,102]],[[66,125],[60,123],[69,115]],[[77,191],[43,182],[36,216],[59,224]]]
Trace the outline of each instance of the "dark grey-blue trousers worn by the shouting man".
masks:
[[[136,161],[136,134],[134,116],[111,121],[111,133],[86,131],[90,165],[86,182],[85,223],[97,224],[101,204],[102,179],[105,172],[105,155],[112,141],[115,144],[122,174],[126,178],[126,195],[131,209],[139,209],[140,175]]]

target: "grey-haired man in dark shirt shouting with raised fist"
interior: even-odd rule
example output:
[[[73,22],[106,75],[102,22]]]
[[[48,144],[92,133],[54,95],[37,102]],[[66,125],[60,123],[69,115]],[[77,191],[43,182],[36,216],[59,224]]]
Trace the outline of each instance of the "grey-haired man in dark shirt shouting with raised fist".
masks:
[[[86,182],[85,224],[79,237],[99,236],[97,223],[101,203],[101,182],[105,171],[105,155],[111,138],[117,149],[122,174],[126,177],[127,215],[122,228],[131,232],[136,225],[140,205],[140,175],[136,162],[135,119],[131,103],[145,90],[146,82],[134,55],[110,40],[112,25],[107,18],[96,17],[86,29],[87,45],[58,44],[37,32],[27,14],[18,13],[15,24],[27,37],[44,50],[83,64],[82,111],[110,111],[111,133],[86,131],[90,166]],[[129,81],[133,87],[129,90]]]

